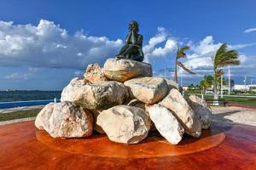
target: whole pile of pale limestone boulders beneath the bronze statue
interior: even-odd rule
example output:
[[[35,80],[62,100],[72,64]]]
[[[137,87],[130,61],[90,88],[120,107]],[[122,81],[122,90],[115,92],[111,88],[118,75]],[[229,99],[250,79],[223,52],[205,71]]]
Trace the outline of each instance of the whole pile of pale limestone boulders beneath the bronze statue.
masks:
[[[108,139],[137,144],[157,130],[171,144],[183,133],[199,138],[211,124],[212,111],[195,95],[186,100],[177,83],[152,77],[151,65],[130,59],[108,59],[101,68],[87,66],[84,78],[73,78],[60,103],[46,105],[35,125],[52,137],[82,138],[106,133]]]

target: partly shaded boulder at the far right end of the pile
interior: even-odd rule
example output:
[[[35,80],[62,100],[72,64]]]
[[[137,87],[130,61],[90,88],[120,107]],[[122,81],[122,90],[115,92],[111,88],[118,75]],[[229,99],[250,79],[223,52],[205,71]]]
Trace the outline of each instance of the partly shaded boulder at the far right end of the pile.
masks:
[[[188,99],[190,107],[195,112],[196,116],[201,121],[201,127],[207,129],[210,127],[212,122],[212,110],[207,105],[206,100],[197,97],[196,95],[190,95]]]

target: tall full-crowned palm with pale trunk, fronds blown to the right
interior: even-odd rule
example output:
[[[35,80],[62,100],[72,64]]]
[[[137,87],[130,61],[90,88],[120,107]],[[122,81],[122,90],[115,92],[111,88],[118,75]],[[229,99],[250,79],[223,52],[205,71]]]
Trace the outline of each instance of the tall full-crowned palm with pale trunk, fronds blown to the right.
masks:
[[[238,59],[238,53],[234,49],[228,50],[228,45],[223,43],[217,50],[215,57],[212,58],[213,63],[213,104],[218,105],[218,77],[221,76],[224,71],[222,69],[218,70],[220,67],[225,67],[227,65],[240,65],[240,60]]]

